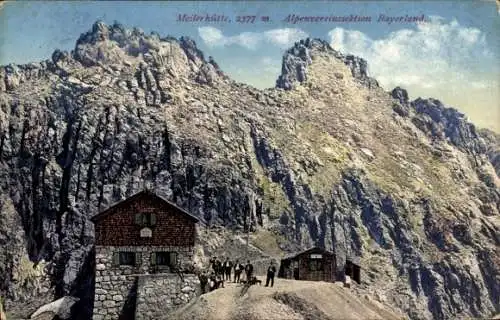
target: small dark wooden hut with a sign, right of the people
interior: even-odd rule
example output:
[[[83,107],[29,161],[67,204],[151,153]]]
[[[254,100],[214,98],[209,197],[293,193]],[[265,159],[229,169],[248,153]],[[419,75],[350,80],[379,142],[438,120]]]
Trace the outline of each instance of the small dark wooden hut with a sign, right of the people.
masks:
[[[281,260],[279,278],[335,282],[335,254],[314,247]]]

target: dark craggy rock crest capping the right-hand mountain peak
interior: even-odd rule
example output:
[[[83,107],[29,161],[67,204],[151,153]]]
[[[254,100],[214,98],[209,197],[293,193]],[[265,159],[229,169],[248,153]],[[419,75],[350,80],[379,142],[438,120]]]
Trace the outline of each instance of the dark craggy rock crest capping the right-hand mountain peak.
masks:
[[[307,80],[307,66],[313,63],[316,55],[330,55],[343,61],[351,69],[352,76],[367,87],[378,87],[378,82],[368,76],[368,63],[354,55],[344,55],[333,49],[328,42],[321,39],[306,38],[294,44],[283,55],[281,75],[276,87],[291,90],[297,84]]]

